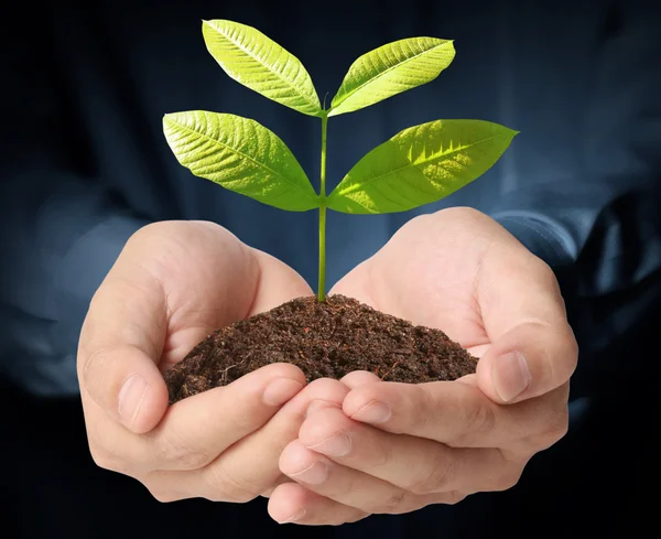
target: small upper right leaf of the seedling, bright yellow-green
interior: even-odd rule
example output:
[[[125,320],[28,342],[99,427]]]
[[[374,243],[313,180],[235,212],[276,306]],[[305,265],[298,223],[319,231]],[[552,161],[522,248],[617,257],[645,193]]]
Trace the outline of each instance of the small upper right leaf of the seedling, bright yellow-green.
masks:
[[[411,37],[375,48],[351,64],[328,116],[369,107],[430,83],[454,56],[453,42],[436,37]]]

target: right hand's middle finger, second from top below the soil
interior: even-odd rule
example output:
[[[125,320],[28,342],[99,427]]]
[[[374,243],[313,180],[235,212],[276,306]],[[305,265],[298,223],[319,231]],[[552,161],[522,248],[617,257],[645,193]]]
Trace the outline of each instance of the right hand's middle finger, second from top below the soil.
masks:
[[[307,419],[299,441],[337,464],[418,495],[502,491],[519,479],[522,470],[521,463],[506,461],[497,449],[449,448],[392,434],[334,409]]]

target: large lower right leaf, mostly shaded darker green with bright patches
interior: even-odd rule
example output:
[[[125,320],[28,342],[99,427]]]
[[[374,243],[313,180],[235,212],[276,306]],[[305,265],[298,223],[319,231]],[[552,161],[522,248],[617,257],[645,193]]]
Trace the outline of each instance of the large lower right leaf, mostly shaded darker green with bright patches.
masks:
[[[518,133],[483,120],[436,120],[404,129],[365,155],[327,198],[347,214],[405,212],[479,177]]]

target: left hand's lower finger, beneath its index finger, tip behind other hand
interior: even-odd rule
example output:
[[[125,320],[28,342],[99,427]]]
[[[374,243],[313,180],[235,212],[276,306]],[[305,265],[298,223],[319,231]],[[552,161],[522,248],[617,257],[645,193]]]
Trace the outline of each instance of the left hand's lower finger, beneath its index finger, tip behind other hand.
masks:
[[[192,472],[152,473],[150,487],[158,492],[176,488],[180,493],[212,502],[249,502],[281,481],[282,474],[278,467],[280,455],[286,444],[296,438],[310,405],[323,403],[339,410],[347,391],[348,388],[337,380],[314,380],[263,427],[231,445],[226,444],[228,449],[208,465]]]

